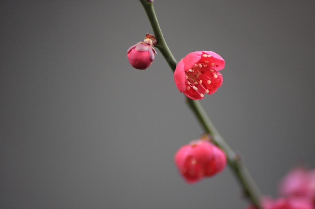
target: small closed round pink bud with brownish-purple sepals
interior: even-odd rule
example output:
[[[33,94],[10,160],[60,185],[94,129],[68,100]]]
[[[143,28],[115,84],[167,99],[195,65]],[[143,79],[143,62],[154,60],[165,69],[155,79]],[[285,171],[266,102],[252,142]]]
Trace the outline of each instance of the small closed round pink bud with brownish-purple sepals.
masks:
[[[132,67],[139,70],[149,67],[154,60],[154,55],[157,54],[153,48],[153,45],[156,44],[157,40],[155,37],[147,34],[146,39],[130,46],[127,50],[127,56]]]

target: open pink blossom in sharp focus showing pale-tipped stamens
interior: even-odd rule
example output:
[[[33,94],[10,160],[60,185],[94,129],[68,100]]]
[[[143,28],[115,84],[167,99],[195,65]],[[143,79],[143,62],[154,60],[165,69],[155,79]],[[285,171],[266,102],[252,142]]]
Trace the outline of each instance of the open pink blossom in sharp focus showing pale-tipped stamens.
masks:
[[[213,94],[221,86],[223,78],[217,71],[224,65],[222,57],[213,51],[189,53],[176,65],[175,84],[188,98],[203,99],[205,93]]]

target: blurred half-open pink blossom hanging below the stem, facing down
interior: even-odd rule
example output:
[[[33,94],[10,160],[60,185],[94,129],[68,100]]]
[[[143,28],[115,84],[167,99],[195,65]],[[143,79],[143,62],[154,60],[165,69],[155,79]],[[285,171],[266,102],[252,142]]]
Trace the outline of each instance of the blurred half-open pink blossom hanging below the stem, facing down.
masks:
[[[219,147],[203,139],[182,146],[175,154],[175,164],[187,183],[221,172],[226,160],[226,154]]]

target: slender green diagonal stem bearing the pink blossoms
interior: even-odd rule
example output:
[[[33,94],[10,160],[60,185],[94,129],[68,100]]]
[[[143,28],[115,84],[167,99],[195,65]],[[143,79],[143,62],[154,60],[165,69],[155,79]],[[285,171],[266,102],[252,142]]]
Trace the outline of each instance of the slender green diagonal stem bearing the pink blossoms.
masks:
[[[160,50],[166,62],[169,64],[170,68],[174,72],[177,61],[173,56],[172,52],[169,50],[169,47],[167,46],[164,40],[162,31],[157,22],[157,17],[154,12],[153,2],[149,2],[148,0],[140,0],[140,2],[146,11],[146,14],[148,16],[148,19],[150,20],[150,24],[154,32],[154,36],[157,39],[157,45],[155,45],[155,47]],[[231,149],[231,147],[224,141],[218,130],[210,121],[207,113],[204,111],[203,107],[201,106],[198,100],[192,100],[186,97],[186,103],[191,108],[192,112],[195,114],[204,132],[210,134],[212,136],[213,142],[218,147],[221,147],[221,149],[225,151],[228,159],[228,164],[232,171],[234,172],[239,183],[241,184],[244,191],[244,195],[248,197],[250,201],[257,206],[258,209],[261,209],[260,206],[261,192],[256,186],[251,175],[249,174],[245,164],[243,163],[241,156],[237,155]]]

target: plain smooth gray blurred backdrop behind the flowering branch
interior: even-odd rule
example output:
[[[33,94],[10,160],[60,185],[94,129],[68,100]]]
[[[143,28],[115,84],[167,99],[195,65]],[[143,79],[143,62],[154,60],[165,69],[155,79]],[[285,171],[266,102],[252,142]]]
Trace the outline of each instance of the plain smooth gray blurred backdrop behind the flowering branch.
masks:
[[[264,194],[315,167],[315,2],[155,0],[177,60],[215,51],[223,85],[201,101]],[[0,208],[220,208],[247,203],[229,168],[187,185],[173,156],[201,134],[157,50],[127,49],[136,0],[1,1]]]

